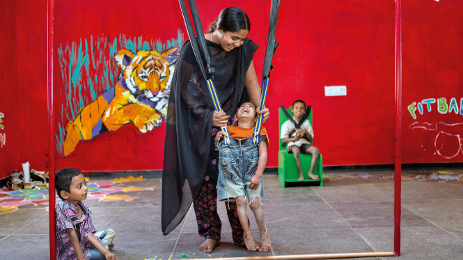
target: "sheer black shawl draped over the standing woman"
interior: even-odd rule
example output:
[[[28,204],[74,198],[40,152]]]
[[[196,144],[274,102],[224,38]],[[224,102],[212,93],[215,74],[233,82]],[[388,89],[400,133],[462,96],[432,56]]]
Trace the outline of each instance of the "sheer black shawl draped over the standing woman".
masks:
[[[223,111],[230,120],[249,96],[244,90],[246,72],[258,49],[252,40],[226,52],[207,42],[214,85]],[[198,195],[207,170],[212,142],[214,106],[199,70],[191,43],[185,42],[175,65],[168,100],[164,167],[162,170],[162,231],[169,234],[180,224]]]

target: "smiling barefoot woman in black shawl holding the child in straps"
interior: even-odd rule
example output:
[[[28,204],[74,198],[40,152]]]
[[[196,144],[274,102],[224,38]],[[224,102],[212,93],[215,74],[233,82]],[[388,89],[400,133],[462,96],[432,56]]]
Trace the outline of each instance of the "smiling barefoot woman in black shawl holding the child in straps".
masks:
[[[166,142],[162,174],[162,231],[169,234],[194,202],[199,234],[205,242],[199,249],[212,252],[220,240],[217,215],[218,153],[214,136],[219,127],[236,124],[240,104],[260,101],[260,85],[253,65],[258,46],[247,38],[249,18],[240,8],[221,11],[205,34],[215,69],[214,85],[224,112],[214,111],[207,84],[199,70],[190,42],[186,42],[175,65],[166,120]],[[264,121],[267,109],[260,111]],[[244,244],[236,204],[227,205],[233,240]]]

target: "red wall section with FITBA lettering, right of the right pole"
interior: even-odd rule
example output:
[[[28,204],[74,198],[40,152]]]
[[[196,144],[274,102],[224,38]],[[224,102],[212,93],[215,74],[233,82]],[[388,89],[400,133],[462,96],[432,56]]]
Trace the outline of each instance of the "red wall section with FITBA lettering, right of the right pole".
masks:
[[[463,2],[402,2],[402,145],[405,163],[463,161]],[[431,111],[423,99],[445,98]],[[456,108],[450,112],[451,99]],[[419,112],[421,103],[423,113]],[[412,106],[416,119],[407,109]],[[455,113],[457,112],[457,113]],[[426,124],[429,123],[429,124]],[[436,129],[437,127],[437,129]],[[427,129],[427,130],[425,130]]]

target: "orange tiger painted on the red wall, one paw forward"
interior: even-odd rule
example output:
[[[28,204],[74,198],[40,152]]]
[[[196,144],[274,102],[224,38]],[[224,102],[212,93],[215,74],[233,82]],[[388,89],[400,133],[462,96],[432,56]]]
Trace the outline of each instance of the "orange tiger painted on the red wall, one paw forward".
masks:
[[[64,156],[74,152],[77,143],[132,123],[146,133],[162,124],[175,62],[180,50],[118,51],[114,60],[121,72],[116,85],[81,108],[66,126]]]

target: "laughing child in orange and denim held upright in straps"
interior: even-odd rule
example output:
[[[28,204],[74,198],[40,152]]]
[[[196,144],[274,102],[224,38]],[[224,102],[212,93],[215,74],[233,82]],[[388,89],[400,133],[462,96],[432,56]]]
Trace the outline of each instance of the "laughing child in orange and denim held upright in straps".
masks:
[[[267,131],[262,127],[260,142],[253,145],[253,130],[256,123],[256,106],[246,102],[240,106],[237,112],[237,127],[228,127],[230,132],[230,145],[220,141],[224,135],[219,131],[215,138],[219,147],[219,179],[217,190],[219,200],[233,201],[237,205],[238,218],[243,227],[243,238],[248,250],[267,252],[272,249],[270,238],[265,227],[264,211],[260,206],[260,198],[263,197],[264,187],[262,173],[267,163]],[[265,140],[265,142],[264,142]],[[247,198],[247,200],[246,200]],[[247,205],[256,217],[260,231],[262,245],[254,241],[249,229]]]

